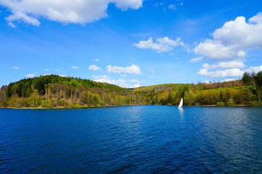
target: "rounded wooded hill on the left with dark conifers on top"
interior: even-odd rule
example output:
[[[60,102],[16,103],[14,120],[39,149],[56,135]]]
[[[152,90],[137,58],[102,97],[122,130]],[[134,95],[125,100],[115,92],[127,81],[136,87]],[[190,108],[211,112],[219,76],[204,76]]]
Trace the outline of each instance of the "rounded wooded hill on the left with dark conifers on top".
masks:
[[[0,107],[143,105],[143,96],[117,85],[57,75],[26,78],[1,87]]]

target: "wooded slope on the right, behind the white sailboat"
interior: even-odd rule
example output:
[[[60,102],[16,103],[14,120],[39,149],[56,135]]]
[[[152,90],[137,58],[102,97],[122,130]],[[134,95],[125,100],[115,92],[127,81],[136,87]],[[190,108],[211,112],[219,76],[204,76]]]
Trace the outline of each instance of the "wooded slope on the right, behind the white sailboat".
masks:
[[[224,83],[165,84],[139,87],[147,103],[152,105],[262,105],[262,72],[243,74],[242,80]]]

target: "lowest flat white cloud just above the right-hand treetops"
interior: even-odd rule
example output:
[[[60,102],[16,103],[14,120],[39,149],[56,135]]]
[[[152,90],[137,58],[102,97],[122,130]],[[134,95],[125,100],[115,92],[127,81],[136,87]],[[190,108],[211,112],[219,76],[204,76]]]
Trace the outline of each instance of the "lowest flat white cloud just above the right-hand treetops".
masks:
[[[243,75],[243,71],[239,68],[231,68],[231,69],[224,69],[224,70],[216,70],[214,72],[209,72],[208,69],[200,69],[198,74],[202,76],[208,76],[213,78],[220,78],[220,77],[238,77]]]

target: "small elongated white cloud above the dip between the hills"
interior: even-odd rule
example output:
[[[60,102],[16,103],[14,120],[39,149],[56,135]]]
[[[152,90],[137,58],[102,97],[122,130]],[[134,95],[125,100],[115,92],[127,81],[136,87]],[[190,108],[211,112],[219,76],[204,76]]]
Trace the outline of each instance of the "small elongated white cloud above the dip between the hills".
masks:
[[[117,67],[115,65],[108,65],[106,66],[106,68],[107,72],[141,74],[141,69],[138,65],[131,65],[129,67]]]

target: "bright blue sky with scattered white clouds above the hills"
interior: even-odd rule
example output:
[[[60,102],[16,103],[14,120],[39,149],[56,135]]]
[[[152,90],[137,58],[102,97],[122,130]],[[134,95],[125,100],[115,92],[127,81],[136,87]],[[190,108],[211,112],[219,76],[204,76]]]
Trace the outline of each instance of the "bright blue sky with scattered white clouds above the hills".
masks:
[[[48,74],[213,83],[261,70],[261,0],[0,0],[0,85]]]

